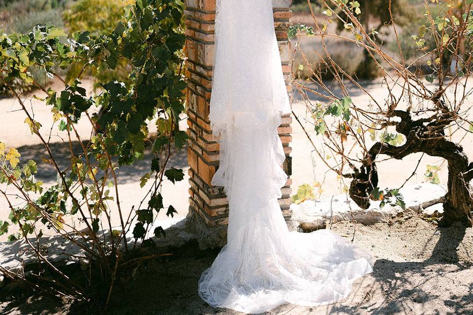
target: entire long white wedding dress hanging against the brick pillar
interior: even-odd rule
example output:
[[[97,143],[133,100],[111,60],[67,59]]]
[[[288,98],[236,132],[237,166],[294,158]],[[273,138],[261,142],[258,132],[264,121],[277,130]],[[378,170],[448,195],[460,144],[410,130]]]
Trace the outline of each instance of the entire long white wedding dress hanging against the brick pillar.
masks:
[[[284,303],[317,306],[348,295],[372,271],[329,230],[289,232],[277,199],[287,175],[277,127],[290,113],[271,0],[217,0],[209,119],[220,136],[230,211],[227,245],[203,272],[209,305],[262,313]]]

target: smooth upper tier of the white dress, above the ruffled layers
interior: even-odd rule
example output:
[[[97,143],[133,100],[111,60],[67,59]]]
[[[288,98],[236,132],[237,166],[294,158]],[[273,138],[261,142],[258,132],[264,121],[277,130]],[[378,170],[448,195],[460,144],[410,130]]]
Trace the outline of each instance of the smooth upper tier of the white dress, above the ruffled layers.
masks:
[[[209,119],[214,134],[289,113],[270,0],[217,0]]]

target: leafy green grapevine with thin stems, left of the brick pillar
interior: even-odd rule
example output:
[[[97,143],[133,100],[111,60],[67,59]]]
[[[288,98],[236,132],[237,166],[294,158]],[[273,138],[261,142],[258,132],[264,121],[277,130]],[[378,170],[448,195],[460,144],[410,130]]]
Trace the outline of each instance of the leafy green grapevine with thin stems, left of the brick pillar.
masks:
[[[184,178],[182,169],[167,166],[170,156],[187,141],[186,132],[176,127],[179,114],[184,110],[186,88],[183,13],[184,4],[180,0],[139,0],[107,34],[83,31],[67,36],[62,29],[38,25],[25,34],[0,35],[0,64],[5,69],[0,72],[0,80],[13,90],[27,116],[25,123],[47,152],[43,161],[57,172],[57,183],[44,187],[34,176],[41,162],[23,160],[21,152],[0,141],[0,184],[17,189],[24,201],[12,203],[9,198],[14,197],[3,194],[9,201],[11,213],[8,218],[1,218],[0,234],[9,233],[13,225],[20,233],[10,239],[30,240],[42,235],[42,228],[46,226],[79,246],[93,262],[91,270],[81,275],[81,280],[85,281],[80,284],[59,273],[59,279],[51,281],[48,287],[54,286],[63,296],[98,301],[101,307],[106,305],[117,270],[127,269],[125,263],[119,262],[130,257],[127,253],[135,247],[133,242],[127,241],[126,232],[133,231],[135,244],[137,240],[144,243],[150,235],[162,234],[163,229],[159,227],[150,231],[160,211],[166,211],[168,216],[176,212],[169,202],[163,202],[161,187],[165,180],[175,183]],[[131,67],[129,85],[111,80],[102,84],[100,94],[87,95],[80,82],[85,71],[91,67],[99,72],[113,70],[121,58],[126,58]],[[39,85],[30,69],[42,69],[48,76],[64,80],[54,72],[54,66],[67,68],[71,63],[81,65],[83,71],[71,79],[70,84],[58,90],[40,87],[35,96],[51,109],[54,126],[68,133],[66,147],[70,149],[70,159],[67,159],[70,165],[60,167],[58,160],[64,159],[64,155],[51,149],[48,139],[39,131],[43,128],[41,122],[35,120],[12,82],[21,80]],[[94,114],[96,107],[102,108],[100,114]],[[82,139],[76,133],[79,120],[90,123],[96,131],[90,138]],[[147,127],[150,121],[158,125],[152,143]],[[101,126],[101,132],[97,132],[97,126]],[[77,143],[78,150],[73,150]],[[143,171],[146,173],[141,185],[143,187],[147,181],[153,184],[145,193],[151,199],[148,204],[137,202],[136,208],[127,209],[130,212],[127,218],[118,197],[119,168],[143,158],[147,144],[153,157],[148,169]],[[112,197],[110,191],[114,190],[115,197]],[[115,212],[109,207],[112,202],[117,205]],[[112,215],[120,218],[119,228],[112,226]],[[82,233],[66,221],[80,221],[87,232]],[[36,242],[29,245],[32,251],[40,251]],[[38,255],[38,259],[40,268],[51,270],[46,258]],[[100,270],[99,279],[90,278],[92,274],[99,274],[92,272],[94,267]],[[44,280],[43,271],[38,272],[38,278]],[[5,276],[24,277],[13,273]]]

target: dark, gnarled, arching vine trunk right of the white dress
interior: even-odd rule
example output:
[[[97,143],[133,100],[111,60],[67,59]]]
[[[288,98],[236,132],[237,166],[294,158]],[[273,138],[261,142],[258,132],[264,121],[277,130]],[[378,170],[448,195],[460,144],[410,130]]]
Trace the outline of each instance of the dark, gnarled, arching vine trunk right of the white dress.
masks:
[[[460,221],[466,226],[472,226],[473,190],[470,181],[473,179],[473,163],[468,162],[461,145],[445,139],[443,130],[450,119],[432,116],[413,121],[409,112],[401,110],[393,111],[393,116],[401,118],[401,122],[396,123],[396,130],[405,135],[405,144],[396,147],[386,142],[376,142],[365,156],[363,166],[355,169],[350,184],[350,197],[363,209],[370,206],[370,194],[378,184],[374,160],[379,154],[402,159],[409,154],[422,152],[448,161],[448,191],[439,225],[449,226]]]

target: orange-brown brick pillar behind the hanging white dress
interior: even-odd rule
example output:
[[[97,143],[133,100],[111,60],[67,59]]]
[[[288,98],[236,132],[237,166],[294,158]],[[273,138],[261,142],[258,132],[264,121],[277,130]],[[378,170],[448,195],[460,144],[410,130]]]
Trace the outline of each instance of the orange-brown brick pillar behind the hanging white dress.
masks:
[[[281,54],[282,69],[286,79],[287,91],[291,93],[290,42],[287,38],[292,0],[272,0],[274,28]],[[228,202],[221,187],[210,185],[215,170],[218,168],[219,145],[212,137],[208,120],[212,63],[214,55],[214,19],[215,0],[186,0],[186,57],[188,81],[188,161],[190,176],[190,198],[188,218],[196,223],[201,235],[203,247],[221,247],[226,242],[228,224]],[[241,43],[244,45],[244,43]],[[283,168],[291,175],[292,117],[283,117],[278,128],[286,160]],[[282,188],[283,196],[279,200],[285,217],[290,216],[291,183],[288,178]],[[203,232],[203,234],[202,234]],[[204,244],[202,244],[204,243]]]

